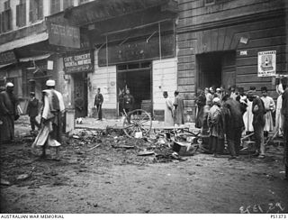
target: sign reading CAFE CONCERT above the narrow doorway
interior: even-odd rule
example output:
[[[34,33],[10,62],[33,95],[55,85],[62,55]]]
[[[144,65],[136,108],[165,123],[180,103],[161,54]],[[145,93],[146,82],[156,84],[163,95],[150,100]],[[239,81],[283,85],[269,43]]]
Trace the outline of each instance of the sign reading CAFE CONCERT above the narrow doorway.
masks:
[[[91,50],[75,52],[63,57],[66,73],[94,71],[94,53]]]

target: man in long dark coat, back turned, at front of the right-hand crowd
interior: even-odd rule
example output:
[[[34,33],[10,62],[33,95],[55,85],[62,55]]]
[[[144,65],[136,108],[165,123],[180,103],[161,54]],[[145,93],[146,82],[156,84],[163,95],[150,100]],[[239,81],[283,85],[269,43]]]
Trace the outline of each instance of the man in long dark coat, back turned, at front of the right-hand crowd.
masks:
[[[231,154],[230,159],[235,159],[239,155],[241,133],[244,129],[243,117],[238,101],[229,98],[229,96],[224,96],[223,102],[224,131]]]

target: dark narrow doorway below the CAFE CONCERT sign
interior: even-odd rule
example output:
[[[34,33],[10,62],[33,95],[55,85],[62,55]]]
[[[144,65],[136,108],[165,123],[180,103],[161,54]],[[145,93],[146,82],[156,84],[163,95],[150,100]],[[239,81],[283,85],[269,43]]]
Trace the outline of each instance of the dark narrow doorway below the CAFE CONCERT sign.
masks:
[[[73,74],[75,118],[87,116],[87,74]]]

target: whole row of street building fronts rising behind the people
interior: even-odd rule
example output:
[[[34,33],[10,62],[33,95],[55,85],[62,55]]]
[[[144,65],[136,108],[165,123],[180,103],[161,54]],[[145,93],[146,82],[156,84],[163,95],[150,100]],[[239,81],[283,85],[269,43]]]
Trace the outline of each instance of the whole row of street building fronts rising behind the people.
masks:
[[[177,89],[193,122],[198,88],[266,86],[276,96],[275,74],[288,70],[287,8],[285,0],[0,0],[0,83],[14,82],[24,100],[53,78],[76,117],[95,116],[98,87],[103,117],[120,116],[130,88],[134,107],[156,120],[163,91]]]

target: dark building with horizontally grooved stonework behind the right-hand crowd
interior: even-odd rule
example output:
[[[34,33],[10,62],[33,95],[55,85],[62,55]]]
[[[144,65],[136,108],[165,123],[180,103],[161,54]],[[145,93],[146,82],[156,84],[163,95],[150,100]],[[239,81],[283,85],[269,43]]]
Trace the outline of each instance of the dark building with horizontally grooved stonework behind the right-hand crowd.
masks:
[[[269,69],[288,74],[287,5],[284,0],[178,1],[178,89],[188,114],[194,113],[197,88],[255,86],[259,92],[266,86],[276,97],[275,77],[258,72],[261,58],[270,60],[272,53],[275,64],[263,67],[267,76]]]

